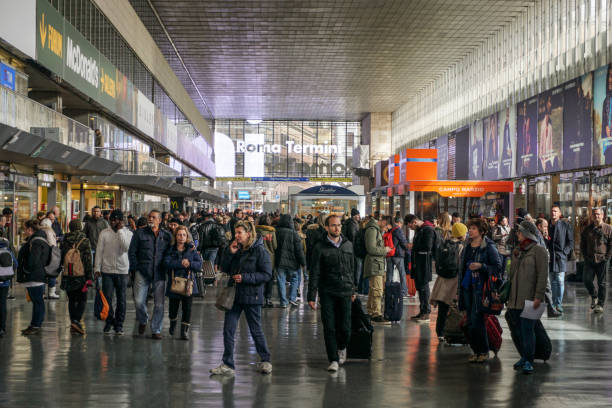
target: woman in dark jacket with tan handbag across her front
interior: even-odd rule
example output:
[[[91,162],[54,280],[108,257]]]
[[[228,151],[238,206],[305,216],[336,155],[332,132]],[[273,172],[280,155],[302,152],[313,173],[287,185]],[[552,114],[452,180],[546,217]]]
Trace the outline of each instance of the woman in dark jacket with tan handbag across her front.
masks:
[[[197,285],[195,283],[195,274],[202,269],[202,258],[195,249],[193,242],[189,241],[187,227],[179,225],[174,230],[174,245],[166,252],[164,257],[164,266],[168,273],[168,284],[166,285],[166,296],[170,299],[170,309],[168,317],[170,318],[170,335],[174,335],[176,329],[176,321],[178,318],[179,305],[183,305],[183,314],[181,316],[181,340],[189,340],[187,332],[191,321],[191,305],[193,302],[193,293],[189,296],[181,295],[170,291],[172,286],[172,278],[180,277],[191,279],[193,282],[194,293],[197,293]]]

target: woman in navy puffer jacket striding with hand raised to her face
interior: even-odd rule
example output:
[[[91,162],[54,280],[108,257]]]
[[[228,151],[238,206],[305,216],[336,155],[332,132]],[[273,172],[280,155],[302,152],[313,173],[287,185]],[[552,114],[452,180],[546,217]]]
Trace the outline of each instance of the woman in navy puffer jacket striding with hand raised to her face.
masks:
[[[236,297],[232,309],[225,312],[223,363],[210,372],[213,375],[234,374],[234,335],[240,315],[244,312],[255,348],[261,357],[258,370],[263,374],[270,374],[272,364],[266,337],[261,328],[261,309],[264,302],[264,285],[272,279],[272,263],[263,239],[257,238],[253,223],[236,223],[235,239],[225,248],[221,270],[231,275],[236,285]]]

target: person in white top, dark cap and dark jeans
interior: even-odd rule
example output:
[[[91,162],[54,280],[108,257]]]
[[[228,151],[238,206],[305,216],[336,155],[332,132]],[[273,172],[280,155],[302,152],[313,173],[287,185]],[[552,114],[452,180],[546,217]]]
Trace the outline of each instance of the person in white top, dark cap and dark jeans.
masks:
[[[109,310],[104,326],[104,334],[123,335],[125,321],[126,291],[130,263],[128,250],[132,241],[132,231],[123,225],[123,212],[113,210],[110,213],[110,228],[106,228],[98,237],[94,273],[96,278],[102,276],[102,292],[108,301]],[[113,309],[113,293],[117,297],[117,306]]]

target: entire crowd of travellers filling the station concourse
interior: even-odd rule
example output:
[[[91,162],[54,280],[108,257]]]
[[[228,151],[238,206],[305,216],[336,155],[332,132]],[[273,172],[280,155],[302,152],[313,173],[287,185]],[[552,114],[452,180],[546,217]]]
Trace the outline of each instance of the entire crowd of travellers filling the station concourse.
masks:
[[[584,285],[598,314],[604,311],[612,256],[612,227],[604,223],[604,215],[593,209],[580,239]],[[41,332],[45,292],[49,300],[57,299],[59,279],[74,335],[85,333],[82,320],[92,286],[101,289],[109,304],[104,334],[123,335],[131,287],[135,335],[144,336],[149,325],[152,339],[163,338],[167,298],[168,333],[175,335],[180,309],[180,339],[188,340],[192,297],[201,289],[195,277],[207,265],[229,275],[235,286],[233,306],[224,317],[224,354],[211,369],[213,375],[234,372],[235,332],[243,312],[261,358],[258,369],[270,373],[262,308],[296,308],[303,296],[310,308],[321,311],[328,370],[337,371],[347,358],[352,303],[358,295],[367,296],[371,321],[390,325],[390,320],[401,319],[392,318],[385,304],[396,283],[401,298],[411,295],[411,285],[415,288],[419,312],[410,320],[428,323],[432,307],[437,308],[440,341],[451,315],[462,313],[472,363],[483,363],[490,351],[497,352],[489,344],[487,319],[505,307],[520,340],[515,342],[520,360],[514,368],[531,373],[537,319],[523,312],[526,305],[539,309],[545,303],[549,317],[563,316],[565,273],[575,258],[573,228],[558,206],[552,207],[549,219],[533,219],[519,209],[513,226],[505,216],[475,216],[464,224],[457,213],[362,219],[357,209],[344,216],[316,217],[254,215],[240,209],[191,216],[153,210],[136,218],[119,209],[102,212],[94,207],[83,221],[70,221],[65,232],[53,209],[24,223],[25,240],[18,251],[6,227],[11,220],[12,212],[5,209],[0,217],[0,336],[6,331],[6,301],[14,281],[32,303],[32,318],[22,334],[34,335]],[[5,273],[11,269],[14,276]]]

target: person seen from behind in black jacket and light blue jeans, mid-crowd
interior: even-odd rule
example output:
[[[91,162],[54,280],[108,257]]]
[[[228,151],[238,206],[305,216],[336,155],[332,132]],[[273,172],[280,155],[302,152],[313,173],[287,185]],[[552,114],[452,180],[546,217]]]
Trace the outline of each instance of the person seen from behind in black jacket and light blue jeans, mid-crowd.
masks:
[[[300,266],[306,265],[302,238],[293,229],[291,215],[283,214],[276,226],[276,253],[274,262],[278,278],[278,294],[282,308],[287,307],[285,283],[289,280],[289,303],[297,306],[298,274]]]

